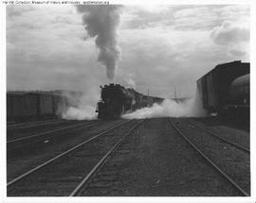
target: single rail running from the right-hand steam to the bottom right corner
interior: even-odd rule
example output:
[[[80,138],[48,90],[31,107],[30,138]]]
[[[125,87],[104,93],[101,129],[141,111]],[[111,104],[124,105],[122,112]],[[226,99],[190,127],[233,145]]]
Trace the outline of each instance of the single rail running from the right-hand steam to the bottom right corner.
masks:
[[[178,132],[179,135],[181,135],[187,143],[189,143],[192,148],[194,150],[196,150],[201,157],[207,161],[208,163],[210,163],[210,165],[223,177],[226,178],[229,183],[241,194],[244,196],[249,196],[249,194],[247,193],[247,191],[245,189],[243,189],[233,178],[230,178],[229,175],[227,173],[225,173],[214,161],[212,161],[209,156],[207,156],[201,149],[199,149],[199,147],[196,146],[196,144],[193,144],[192,141],[185,135],[185,133],[182,132],[180,127],[177,127],[177,125],[174,124],[174,122],[171,120],[171,118],[169,119],[169,122],[171,124],[171,126],[174,127],[174,129]]]

